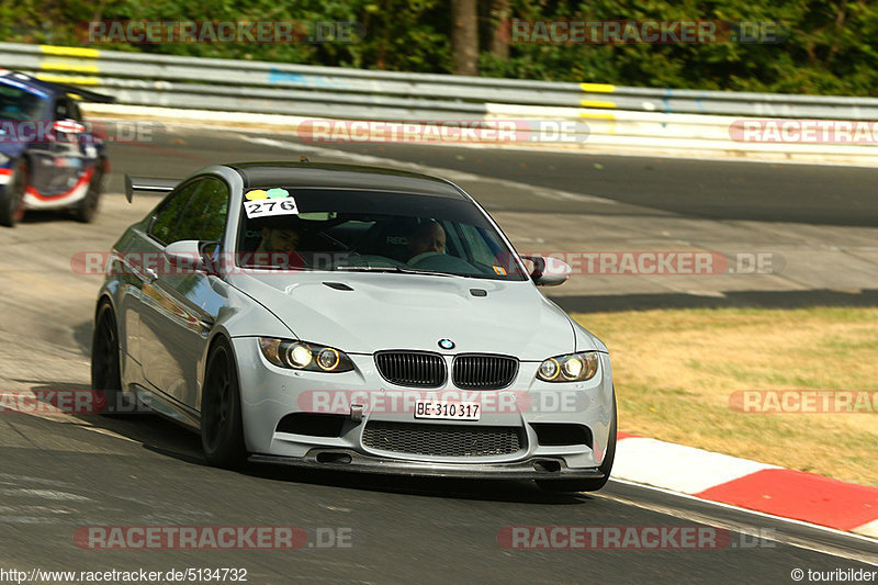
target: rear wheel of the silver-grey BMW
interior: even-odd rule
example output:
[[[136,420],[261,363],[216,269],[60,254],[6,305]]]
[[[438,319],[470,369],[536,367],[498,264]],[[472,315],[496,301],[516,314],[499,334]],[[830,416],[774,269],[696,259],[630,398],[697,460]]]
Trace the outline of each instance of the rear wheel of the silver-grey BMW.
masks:
[[[112,305],[104,301],[94,317],[91,336],[91,389],[106,398],[101,414],[131,412],[122,394],[122,369],[119,359],[119,329]]]

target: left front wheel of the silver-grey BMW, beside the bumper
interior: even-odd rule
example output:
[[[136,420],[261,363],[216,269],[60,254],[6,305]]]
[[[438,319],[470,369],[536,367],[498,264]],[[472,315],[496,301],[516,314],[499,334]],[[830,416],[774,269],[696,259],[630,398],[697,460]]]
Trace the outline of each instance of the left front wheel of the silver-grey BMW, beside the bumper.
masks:
[[[224,338],[207,356],[201,401],[201,447],[207,463],[217,468],[238,469],[247,460],[238,370],[232,346]]]

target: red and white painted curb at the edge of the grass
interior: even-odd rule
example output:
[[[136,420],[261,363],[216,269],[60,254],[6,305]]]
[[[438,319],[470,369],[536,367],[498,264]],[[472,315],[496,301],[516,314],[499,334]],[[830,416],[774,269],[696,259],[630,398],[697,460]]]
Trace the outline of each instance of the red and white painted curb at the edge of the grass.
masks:
[[[619,434],[612,477],[878,538],[878,488]]]

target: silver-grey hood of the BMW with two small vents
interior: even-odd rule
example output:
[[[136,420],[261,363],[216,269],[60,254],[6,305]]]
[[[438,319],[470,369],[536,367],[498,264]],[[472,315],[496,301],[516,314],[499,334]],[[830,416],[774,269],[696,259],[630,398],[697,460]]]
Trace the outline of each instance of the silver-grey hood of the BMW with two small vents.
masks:
[[[576,344],[567,316],[530,282],[350,272],[264,272],[228,280],[296,338],[351,353],[440,351],[438,342],[447,338],[455,344],[454,353],[538,361],[574,351]],[[486,294],[475,296],[473,289]]]

